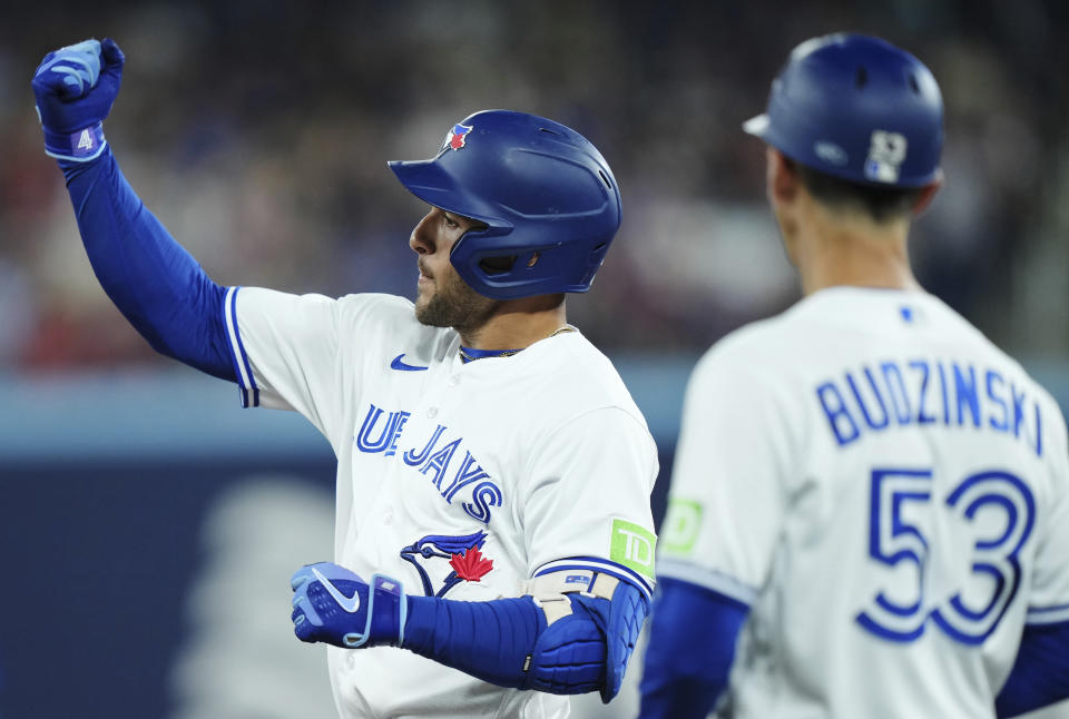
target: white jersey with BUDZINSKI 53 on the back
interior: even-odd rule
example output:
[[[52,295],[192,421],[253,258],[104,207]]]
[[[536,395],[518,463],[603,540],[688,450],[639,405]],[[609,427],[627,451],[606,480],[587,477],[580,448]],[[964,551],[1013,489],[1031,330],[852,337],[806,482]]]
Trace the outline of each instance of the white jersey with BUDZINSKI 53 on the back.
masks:
[[[931,295],[825,289],[702,360],[661,534],[751,605],[724,713],[993,717],[1069,620],[1065,420]]]

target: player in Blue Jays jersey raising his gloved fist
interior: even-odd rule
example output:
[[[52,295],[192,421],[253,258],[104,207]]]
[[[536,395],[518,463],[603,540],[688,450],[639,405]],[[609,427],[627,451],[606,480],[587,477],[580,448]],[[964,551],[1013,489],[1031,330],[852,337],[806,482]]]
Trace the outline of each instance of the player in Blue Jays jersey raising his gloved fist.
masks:
[[[331,442],[336,563],[294,574],[292,620],[333,644],[340,713],[548,718],[568,712],[559,695],[611,699],[649,608],[657,454],[565,316],[620,223],[598,150],[490,110],[433,159],[391,162],[430,205],[409,239],[414,306],[220,287],[104,138],[124,60],[111,40],[45,58],[46,149],[97,276],[153,346]]]

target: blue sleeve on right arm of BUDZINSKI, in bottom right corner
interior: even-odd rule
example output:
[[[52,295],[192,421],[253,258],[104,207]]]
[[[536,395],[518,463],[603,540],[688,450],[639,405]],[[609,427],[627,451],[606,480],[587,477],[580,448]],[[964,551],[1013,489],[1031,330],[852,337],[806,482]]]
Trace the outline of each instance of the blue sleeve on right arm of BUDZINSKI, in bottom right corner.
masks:
[[[1026,626],[1017,661],[996,698],[996,713],[1016,717],[1067,698],[1069,622]]]

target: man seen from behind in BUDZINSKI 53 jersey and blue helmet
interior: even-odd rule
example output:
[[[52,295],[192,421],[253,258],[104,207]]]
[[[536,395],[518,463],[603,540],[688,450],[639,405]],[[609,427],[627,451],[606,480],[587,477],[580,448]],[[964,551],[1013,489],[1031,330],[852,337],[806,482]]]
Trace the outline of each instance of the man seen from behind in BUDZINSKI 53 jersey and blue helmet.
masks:
[[[768,197],[805,298],[687,390],[644,718],[1014,716],[1069,695],[1057,404],[910,269],[942,100],[913,56],[801,45]]]

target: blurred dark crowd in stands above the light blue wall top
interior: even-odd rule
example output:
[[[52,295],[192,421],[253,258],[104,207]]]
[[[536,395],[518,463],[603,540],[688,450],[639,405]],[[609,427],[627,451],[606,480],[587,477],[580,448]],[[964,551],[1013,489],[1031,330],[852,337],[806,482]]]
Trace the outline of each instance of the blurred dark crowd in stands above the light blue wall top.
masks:
[[[69,7],[65,7],[68,6]],[[8,3],[0,21],[0,367],[159,363],[98,288],[29,79],[50,49],[127,56],[106,125],[151,209],[220,283],[412,296],[422,208],[385,167],[507,107],[602,150],[625,220],[571,319],[610,355],[697,353],[797,297],[739,124],[802,39],[886,37],[947,102],[923,284],[1007,348],[1069,349],[1069,4],[1022,0]]]

